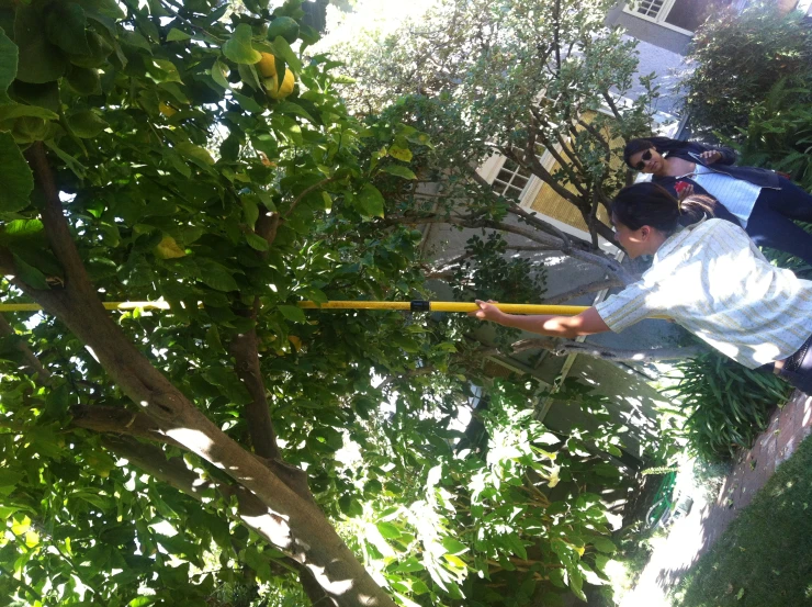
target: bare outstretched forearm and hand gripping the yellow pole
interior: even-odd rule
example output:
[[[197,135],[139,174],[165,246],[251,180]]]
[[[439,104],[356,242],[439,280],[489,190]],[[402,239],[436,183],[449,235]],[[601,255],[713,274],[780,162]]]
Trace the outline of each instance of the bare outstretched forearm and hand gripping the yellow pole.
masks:
[[[578,337],[611,330],[594,307],[577,316],[553,316],[549,314],[506,314],[492,303],[476,300],[480,310],[472,312],[481,321],[490,321],[505,327],[538,333],[550,337]]]

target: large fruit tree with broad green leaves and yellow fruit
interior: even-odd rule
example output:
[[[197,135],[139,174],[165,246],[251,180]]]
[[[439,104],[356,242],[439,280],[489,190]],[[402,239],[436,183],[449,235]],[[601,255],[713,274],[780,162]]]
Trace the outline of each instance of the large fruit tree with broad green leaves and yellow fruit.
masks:
[[[618,482],[620,439],[599,403],[599,431],[545,449],[534,386],[485,381],[459,327],[296,307],[427,295],[420,233],[387,220],[431,151],[396,114],[349,115],[302,16],[295,0],[0,5],[2,301],[58,316],[2,323],[3,598],[460,605],[504,575],[520,605],[600,583],[613,546],[585,486]],[[262,53],[295,76],[285,99]],[[110,323],[99,294],[170,312]],[[492,406],[463,453],[469,376]]]

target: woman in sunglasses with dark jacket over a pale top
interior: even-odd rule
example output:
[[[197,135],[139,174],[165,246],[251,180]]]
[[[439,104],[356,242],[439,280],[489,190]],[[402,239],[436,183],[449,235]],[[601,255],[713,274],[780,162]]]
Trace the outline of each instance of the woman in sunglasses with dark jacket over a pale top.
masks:
[[[812,266],[812,235],[792,220],[812,222],[812,195],[775,171],[736,167],[721,146],[668,137],[631,139],[625,164],[651,173],[674,195],[710,194],[730,211],[758,246],[787,251]],[[726,218],[726,217],[725,217]]]

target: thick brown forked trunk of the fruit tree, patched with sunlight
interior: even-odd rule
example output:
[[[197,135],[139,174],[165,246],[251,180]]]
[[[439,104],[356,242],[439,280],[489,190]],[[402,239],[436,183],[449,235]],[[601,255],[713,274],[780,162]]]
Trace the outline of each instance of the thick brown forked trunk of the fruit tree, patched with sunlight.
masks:
[[[65,269],[65,288],[36,290],[15,281],[88,347],[111,379],[160,431],[223,470],[257,499],[244,521],[302,564],[337,607],[394,607],[313,503],[223,432],[135,348],[99,300],[72,240],[45,150],[26,153],[45,194],[43,224]]]

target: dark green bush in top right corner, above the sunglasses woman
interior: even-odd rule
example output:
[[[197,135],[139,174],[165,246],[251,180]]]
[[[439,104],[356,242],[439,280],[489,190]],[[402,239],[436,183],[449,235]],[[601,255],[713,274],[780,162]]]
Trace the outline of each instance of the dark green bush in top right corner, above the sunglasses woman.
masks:
[[[775,2],[741,14],[724,11],[693,36],[696,69],[684,82],[686,109],[699,135],[738,138],[754,105],[785,78],[812,81],[812,29],[799,11],[781,15]],[[812,100],[809,88],[796,102]]]

